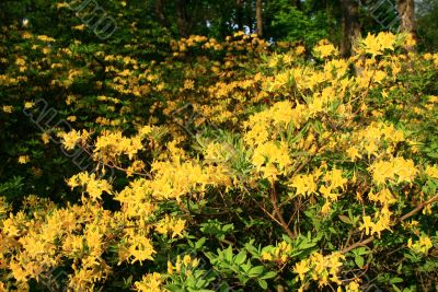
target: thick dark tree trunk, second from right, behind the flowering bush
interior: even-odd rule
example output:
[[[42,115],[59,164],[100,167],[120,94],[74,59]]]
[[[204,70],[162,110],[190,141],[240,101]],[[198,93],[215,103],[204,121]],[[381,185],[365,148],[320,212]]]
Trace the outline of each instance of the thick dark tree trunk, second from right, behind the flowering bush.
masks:
[[[358,15],[358,5],[355,0],[341,0],[343,13],[343,40],[341,54],[344,57],[350,56],[360,37],[360,24]]]

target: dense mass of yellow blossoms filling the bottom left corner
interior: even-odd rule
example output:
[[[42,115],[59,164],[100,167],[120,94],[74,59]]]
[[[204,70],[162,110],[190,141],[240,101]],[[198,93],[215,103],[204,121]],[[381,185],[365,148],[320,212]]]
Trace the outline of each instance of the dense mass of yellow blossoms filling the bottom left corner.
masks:
[[[8,267],[19,284],[38,279],[66,259],[72,261],[70,289],[91,290],[105,279],[111,268],[102,256],[112,244],[106,235],[117,227],[117,217],[87,203],[67,209],[47,202],[37,206],[46,209],[30,217],[19,212],[2,221],[0,266]]]

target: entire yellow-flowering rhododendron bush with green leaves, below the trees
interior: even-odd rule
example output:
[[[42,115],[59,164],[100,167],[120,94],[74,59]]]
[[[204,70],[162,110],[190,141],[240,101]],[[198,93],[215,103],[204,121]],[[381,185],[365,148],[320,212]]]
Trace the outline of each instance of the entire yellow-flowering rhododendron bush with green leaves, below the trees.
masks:
[[[0,290],[438,285],[438,55],[408,35],[157,60],[11,37],[1,135],[27,176],[0,185]]]

